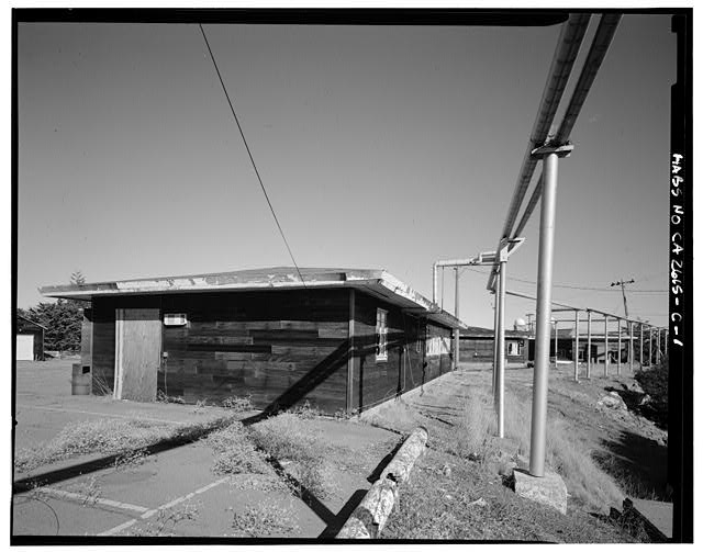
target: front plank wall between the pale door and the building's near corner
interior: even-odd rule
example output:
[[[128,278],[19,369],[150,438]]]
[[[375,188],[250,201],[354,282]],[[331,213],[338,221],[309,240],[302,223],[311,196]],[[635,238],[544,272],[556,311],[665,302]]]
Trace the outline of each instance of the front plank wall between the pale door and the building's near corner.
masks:
[[[250,395],[258,408],[346,406],[348,290],[164,295],[158,388],[187,403]]]

